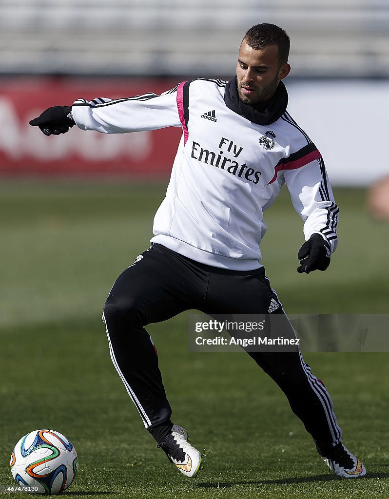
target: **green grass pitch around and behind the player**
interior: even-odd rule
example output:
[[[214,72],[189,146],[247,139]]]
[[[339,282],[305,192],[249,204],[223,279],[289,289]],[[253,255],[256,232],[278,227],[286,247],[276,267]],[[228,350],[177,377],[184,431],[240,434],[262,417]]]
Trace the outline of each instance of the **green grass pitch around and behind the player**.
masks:
[[[150,325],[173,421],[206,449],[207,467],[185,479],[156,449],[111,365],[100,317],[116,276],[148,247],[164,189],[0,186],[0,487],[13,485],[17,440],[52,428],[79,455],[64,496],[388,498],[387,352],[305,355],[333,396],[345,444],[368,468],[344,481],[327,473],[284,395],[246,354],[189,352],[186,314]],[[366,215],[363,190],[335,194],[341,241],[327,272],[296,272],[302,222],[284,193],[265,218],[267,274],[289,313],[387,313],[389,225]]]

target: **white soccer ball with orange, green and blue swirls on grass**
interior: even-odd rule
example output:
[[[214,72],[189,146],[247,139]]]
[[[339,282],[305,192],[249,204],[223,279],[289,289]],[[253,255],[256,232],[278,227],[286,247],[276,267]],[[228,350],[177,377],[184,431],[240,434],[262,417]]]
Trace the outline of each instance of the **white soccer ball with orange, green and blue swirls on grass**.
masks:
[[[73,482],[78,458],[71,442],[54,430],[24,435],[13,449],[11,473],[18,486],[35,494],[61,494]]]

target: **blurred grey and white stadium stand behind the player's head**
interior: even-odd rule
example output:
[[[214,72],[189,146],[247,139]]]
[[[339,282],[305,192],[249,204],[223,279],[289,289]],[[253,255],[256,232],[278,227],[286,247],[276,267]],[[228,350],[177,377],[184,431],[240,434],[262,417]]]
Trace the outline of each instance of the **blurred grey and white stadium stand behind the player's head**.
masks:
[[[273,22],[299,77],[388,77],[388,0],[0,0],[1,74],[230,75]]]

